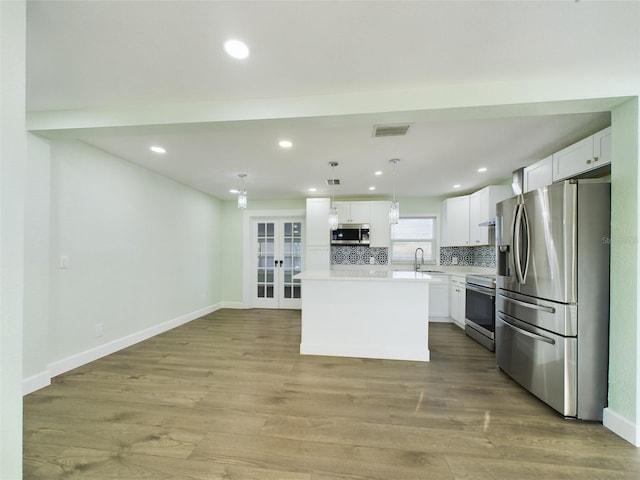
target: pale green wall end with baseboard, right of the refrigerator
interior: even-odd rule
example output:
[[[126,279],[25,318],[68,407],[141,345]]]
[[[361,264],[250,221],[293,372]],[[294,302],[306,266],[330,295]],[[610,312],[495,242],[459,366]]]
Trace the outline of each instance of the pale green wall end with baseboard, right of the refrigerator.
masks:
[[[611,324],[605,426],[640,447],[640,114],[638,98],[612,112]]]

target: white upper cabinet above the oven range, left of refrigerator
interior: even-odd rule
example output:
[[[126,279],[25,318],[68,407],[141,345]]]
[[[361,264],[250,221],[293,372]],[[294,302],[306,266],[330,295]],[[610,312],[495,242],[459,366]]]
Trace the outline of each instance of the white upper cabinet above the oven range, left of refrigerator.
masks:
[[[471,246],[494,243],[487,223],[496,216],[496,203],[512,196],[510,186],[490,185],[469,196],[469,243]],[[481,225],[484,224],[484,225]]]

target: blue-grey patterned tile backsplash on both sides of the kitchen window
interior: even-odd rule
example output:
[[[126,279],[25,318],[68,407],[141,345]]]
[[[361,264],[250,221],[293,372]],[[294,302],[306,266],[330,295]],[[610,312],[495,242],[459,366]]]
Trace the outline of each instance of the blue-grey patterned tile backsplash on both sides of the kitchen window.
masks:
[[[488,267],[496,266],[494,246],[487,247],[441,247],[440,265],[453,265],[453,257],[458,257],[459,266]],[[373,258],[373,263],[371,263]],[[333,245],[331,247],[331,265],[387,265],[388,248],[356,247],[351,245]]]

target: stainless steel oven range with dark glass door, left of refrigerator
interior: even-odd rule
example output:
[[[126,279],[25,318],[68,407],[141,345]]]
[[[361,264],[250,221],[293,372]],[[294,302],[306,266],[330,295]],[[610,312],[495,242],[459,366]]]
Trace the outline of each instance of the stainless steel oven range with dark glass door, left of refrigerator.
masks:
[[[496,276],[467,275],[464,331],[492,352],[496,349]]]

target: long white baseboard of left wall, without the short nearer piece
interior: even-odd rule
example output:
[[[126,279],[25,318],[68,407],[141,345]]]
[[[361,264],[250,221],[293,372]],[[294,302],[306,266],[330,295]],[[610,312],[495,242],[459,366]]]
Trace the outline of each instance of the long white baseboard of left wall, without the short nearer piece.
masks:
[[[72,355],[70,357],[63,358],[62,360],[58,360],[48,365],[49,373],[52,377],[55,377],[56,375],[68,372],[69,370],[73,370],[74,368],[78,368],[82,365],[93,362],[94,360],[102,358],[106,355],[111,355],[112,353],[122,350],[123,348],[135,345],[136,343],[142,342],[143,340],[147,340],[173,328],[179,327],[180,325],[184,325],[185,323],[189,323],[196,318],[200,318],[203,315],[213,313],[219,309],[220,304],[210,305],[200,310],[196,310],[195,312],[187,313],[180,317],[174,318],[173,320],[154,325],[153,327],[141,330],[131,335],[127,335],[126,337],[122,337],[105,343],[104,345],[100,345],[95,348],[85,350],[84,352]]]

